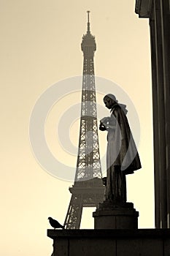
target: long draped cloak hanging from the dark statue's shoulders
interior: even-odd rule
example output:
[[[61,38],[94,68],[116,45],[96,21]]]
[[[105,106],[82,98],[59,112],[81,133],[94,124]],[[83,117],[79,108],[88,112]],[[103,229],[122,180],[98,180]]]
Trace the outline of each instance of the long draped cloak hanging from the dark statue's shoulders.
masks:
[[[107,169],[118,165],[130,174],[141,168],[141,162],[125,113],[125,105],[113,105],[107,128]]]

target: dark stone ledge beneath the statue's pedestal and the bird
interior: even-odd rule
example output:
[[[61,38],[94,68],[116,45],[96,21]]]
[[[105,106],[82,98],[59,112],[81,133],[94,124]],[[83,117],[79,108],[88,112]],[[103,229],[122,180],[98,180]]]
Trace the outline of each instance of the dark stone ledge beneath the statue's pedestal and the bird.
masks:
[[[170,230],[47,230],[53,256],[169,256]]]

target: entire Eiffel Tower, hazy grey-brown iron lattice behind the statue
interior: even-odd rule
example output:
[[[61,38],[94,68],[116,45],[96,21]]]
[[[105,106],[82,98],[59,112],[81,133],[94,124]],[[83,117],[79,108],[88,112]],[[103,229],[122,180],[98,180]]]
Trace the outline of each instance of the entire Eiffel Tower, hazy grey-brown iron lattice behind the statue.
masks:
[[[101,162],[98,148],[98,125],[96,112],[96,89],[94,76],[95,37],[88,30],[82,37],[84,55],[82,75],[82,109],[80,118],[80,138],[77,157],[77,170],[74,185],[69,188],[72,198],[66,214],[66,229],[79,229],[83,207],[96,207],[104,200]]]

